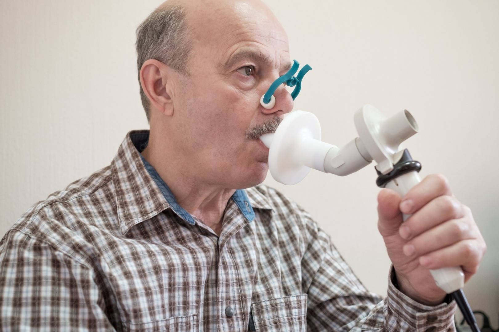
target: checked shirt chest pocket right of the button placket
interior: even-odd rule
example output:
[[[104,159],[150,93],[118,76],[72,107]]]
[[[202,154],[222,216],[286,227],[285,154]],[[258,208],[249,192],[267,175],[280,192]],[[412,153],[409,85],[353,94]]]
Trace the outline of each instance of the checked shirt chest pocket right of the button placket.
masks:
[[[251,304],[254,331],[305,332],[307,295],[292,295]]]

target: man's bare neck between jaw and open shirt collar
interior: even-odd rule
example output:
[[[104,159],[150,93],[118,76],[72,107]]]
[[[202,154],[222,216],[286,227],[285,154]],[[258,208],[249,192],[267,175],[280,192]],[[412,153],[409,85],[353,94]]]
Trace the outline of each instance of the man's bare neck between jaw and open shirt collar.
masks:
[[[227,203],[236,190],[206,184],[186,172],[185,165],[176,162],[181,158],[159,153],[160,150],[164,151],[162,149],[156,150],[154,144],[149,144],[142,151],[142,156],[168,185],[177,203],[220,236]]]

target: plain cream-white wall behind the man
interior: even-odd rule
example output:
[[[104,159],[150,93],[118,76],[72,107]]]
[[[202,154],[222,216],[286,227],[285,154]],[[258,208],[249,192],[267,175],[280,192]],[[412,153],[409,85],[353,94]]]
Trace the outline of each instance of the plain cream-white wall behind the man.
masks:
[[[422,174],[444,173],[489,249],[465,290],[498,327],[499,1],[266,0],[292,57],[313,70],[295,109],[323,140],[355,137],[353,112],[408,109],[406,146]],[[104,167],[125,133],[146,128],[135,28],[159,1],[0,1],[0,233],[30,205]],[[278,187],[308,209],[364,284],[386,294],[371,166],[346,178],[312,171]]]

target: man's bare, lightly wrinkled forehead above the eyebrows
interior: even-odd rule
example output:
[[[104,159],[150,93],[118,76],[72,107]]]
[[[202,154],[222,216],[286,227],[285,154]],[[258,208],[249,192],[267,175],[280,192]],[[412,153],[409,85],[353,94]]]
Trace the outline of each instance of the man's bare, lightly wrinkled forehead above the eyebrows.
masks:
[[[186,8],[193,32],[193,50],[221,67],[242,60],[277,67],[290,66],[287,36],[271,10],[259,0],[206,0]],[[213,2],[213,3],[212,3]]]

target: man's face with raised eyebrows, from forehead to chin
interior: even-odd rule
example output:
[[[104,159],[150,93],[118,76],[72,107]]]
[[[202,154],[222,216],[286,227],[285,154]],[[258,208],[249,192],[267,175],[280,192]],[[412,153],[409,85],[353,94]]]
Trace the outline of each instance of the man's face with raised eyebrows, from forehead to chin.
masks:
[[[236,3],[218,14],[188,15],[194,44],[188,70],[174,101],[174,124],[196,178],[225,188],[261,183],[268,149],[247,132],[291,111],[284,86],[276,105],[264,109],[260,97],[290,67],[285,32],[266,7]]]

